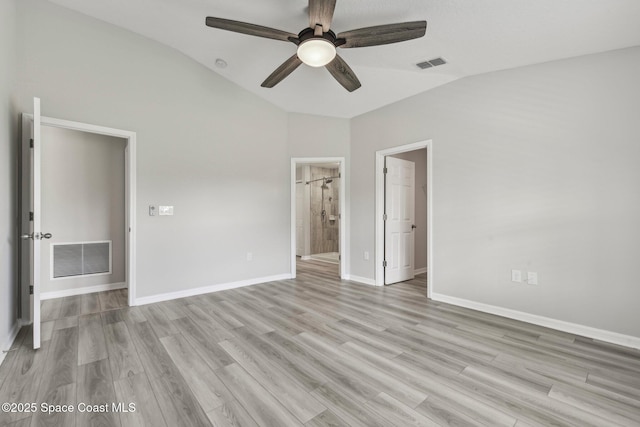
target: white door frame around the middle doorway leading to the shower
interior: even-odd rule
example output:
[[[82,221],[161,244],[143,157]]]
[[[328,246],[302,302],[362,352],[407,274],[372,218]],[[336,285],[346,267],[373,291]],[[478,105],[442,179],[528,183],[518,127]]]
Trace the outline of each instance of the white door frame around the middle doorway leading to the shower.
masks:
[[[296,168],[315,163],[339,163],[340,170],[340,278],[347,276],[347,204],[344,157],[292,157],[291,158],[291,278],[296,277]]]

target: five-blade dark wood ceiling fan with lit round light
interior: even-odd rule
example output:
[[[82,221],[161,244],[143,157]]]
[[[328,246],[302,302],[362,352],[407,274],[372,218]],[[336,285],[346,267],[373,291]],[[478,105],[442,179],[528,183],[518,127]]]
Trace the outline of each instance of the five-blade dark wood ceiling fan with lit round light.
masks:
[[[309,27],[295,35],[286,31],[230,19],[207,17],[209,27],[251,36],[291,42],[298,46],[297,52],[280,65],[262,87],[271,88],[291,74],[300,64],[312,67],[326,67],[331,75],[349,92],[361,84],[353,70],[336,53],[336,48],[378,46],[417,39],[427,31],[426,21],[402,22],[378,25],[345,31],[336,35],[331,31],[331,20],[336,8],[336,0],[309,0]]]

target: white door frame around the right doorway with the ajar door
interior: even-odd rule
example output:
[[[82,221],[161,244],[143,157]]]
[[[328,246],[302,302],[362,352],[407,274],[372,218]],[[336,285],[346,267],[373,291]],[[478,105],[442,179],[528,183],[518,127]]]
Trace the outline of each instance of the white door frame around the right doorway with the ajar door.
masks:
[[[426,140],[376,151],[376,206],[375,206],[375,281],[384,286],[384,158],[392,154],[427,149],[427,297],[433,293],[433,141]]]

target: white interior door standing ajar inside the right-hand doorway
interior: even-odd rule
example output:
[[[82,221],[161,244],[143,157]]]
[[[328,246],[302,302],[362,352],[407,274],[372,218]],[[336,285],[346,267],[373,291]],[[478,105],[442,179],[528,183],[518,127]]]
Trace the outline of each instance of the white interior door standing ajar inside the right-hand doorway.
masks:
[[[408,160],[385,158],[384,283],[414,277],[415,169]]]

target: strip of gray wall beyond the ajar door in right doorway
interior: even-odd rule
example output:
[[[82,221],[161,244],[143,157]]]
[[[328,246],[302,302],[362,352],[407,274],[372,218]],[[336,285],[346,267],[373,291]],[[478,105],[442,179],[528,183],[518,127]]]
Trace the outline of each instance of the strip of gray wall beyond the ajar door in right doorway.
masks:
[[[406,153],[394,154],[389,157],[408,160],[416,164],[416,231],[414,234],[415,251],[414,259],[416,270],[427,268],[427,149],[408,151]]]

